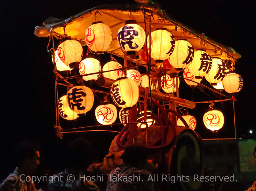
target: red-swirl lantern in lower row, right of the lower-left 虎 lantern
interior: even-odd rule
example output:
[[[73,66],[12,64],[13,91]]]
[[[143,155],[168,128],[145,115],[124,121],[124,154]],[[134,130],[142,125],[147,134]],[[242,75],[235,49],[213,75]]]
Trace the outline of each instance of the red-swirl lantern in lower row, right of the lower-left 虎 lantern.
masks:
[[[117,110],[113,104],[103,103],[95,109],[97,121],[102,125],[110,125],[116,121]]]

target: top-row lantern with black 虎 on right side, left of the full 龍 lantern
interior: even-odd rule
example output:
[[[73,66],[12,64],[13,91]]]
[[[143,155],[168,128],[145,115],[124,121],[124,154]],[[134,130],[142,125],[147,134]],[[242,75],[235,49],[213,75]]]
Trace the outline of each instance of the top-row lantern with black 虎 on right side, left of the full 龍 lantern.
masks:
[[[183,71],[188,67],[194,57],[194,48],[186,39],[178,39],[175,42],[175,48],[169,57],[170,64],[177,71]]]

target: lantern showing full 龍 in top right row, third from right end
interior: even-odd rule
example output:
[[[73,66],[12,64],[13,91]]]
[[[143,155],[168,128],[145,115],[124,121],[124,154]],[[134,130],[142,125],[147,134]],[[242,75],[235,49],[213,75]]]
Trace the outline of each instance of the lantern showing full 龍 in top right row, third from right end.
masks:
[[[205,50],[197,49],[190,65],[189,71],[196,79],[203,79],[203,76],[209,73],[212,67],[212,57]]]

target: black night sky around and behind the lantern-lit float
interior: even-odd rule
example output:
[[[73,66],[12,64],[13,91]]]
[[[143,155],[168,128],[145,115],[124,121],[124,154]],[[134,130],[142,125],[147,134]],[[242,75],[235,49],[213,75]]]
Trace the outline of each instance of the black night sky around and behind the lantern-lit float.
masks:
[[[124,4],[133,3],[122,1]],[[47,53],[47,38],[34,35],[34,28],[42,26],[48,17],[66,19],[71,15],[102,4],[117,4],[118,1],[3,1],[1,3],[1,131],[0,131],[0,180],[13,171],[12,152],[24,139],[38,141],[42,148],[42,166],[61,169],[68,142],[78,134],[66,135],[60,140],[54,133],[55,102],[53,65]],[[255,130],[255,1],[159,1],[168,15],[180,23],[204,33],[223,45],[231,46],[242,55],[236,63],[236,72],[244,79],[244,86],[236,96],[236,127],[238,137],[248,136]],[[114,35],[114,34],[113,34]],[[204,84],[208,85],[208,82]],[[190,91],[190,92],[189,92]],[[191,97],[192,90],[185,96]],[[197,92],[197,93],[196,93]],[[197,96],[198,95],[198,96]],[[204,93],[195,90],[196,101],[205,101]],[[201,99],[202,98],[202,99]],[[216,99],[216,98],[215,98]],[[218,105],[218,104],[216,104]],[[201,107],[204,107],[201,109]],[[232,104],[219,105],[226,118],[233,117]],[[193,112],[202,112],[208,105],[197,106]],[[204,110],[204,111],[202,111]],[[231,112],[231,114],[230,114]],[[201,115],[201,114],[200,114]],[[200,117],[198,115],[198,118]],[[201,117],[199,118],[201,120]],[[198,119],[198,120],[199,120]],[[88,124],[93,124],[92,119]],[[220,136],[229,134],[233,124]],[[225,127],[225,126],[224,126]],[[223,127],[223,128],[224,128]],[[203,128],[203,127],[201,127]],[[200,131],[200,127],[199,127]],[[204,132],[203,130],[200,132]],[[98,150],[99,158],[106,155],[108,144],[115,134],[89,133],[87,136]],[[205,132],[206,138],[211,138]],[[212,137],[215,138],[215,137]],[[42,168],[43,168],[42,167]],[[41,171],[43,171],[41,169]]]

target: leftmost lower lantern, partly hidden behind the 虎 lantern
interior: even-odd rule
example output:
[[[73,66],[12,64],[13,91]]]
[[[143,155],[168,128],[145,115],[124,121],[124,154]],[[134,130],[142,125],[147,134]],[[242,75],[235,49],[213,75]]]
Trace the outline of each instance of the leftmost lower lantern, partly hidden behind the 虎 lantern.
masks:
[[[67,95],[62,96],[59,100],[58,100],[58,111],[59,114],[62,118],[67,119],[67,120],[74,120],[76,118],[78,118],[78,115],[76,112],[72,111],[69,106],[68,106],[68,102],[67,102]]]

